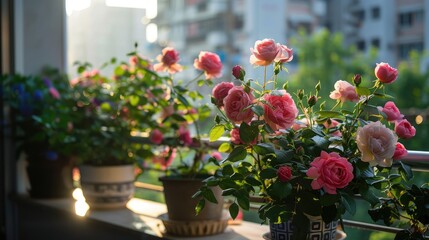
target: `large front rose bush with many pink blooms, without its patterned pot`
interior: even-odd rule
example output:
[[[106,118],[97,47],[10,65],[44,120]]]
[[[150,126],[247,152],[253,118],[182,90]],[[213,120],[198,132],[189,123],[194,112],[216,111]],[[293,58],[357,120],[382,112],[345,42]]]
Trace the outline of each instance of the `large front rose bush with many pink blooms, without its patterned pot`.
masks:
[[[352,82],[337,81],[329,95],[336,104],[328,109],[329,100],[319,96],[320,83],[308,93],[292,93],[287,83],[283,89],[275,87],[278,74],[293,59],[292,49],[264,39],[251,53],[250,63],[264,67],[262,83],[245,80],[245,70],[236,66],[235,83],[222,82],[212,93],[220,114],[210,140],[226,132],[231,141],[219,147],[228,155],[205,182],[233,198],[231,216],[239,208],[248,210],[251,197],[259,196],[263,221],[290,220],[300,226],[296,239],[305,239],[308,215],[322,216],[325,222],[342,219],[345,212],[356,212],[354,197],[359,194],[371,205],[374,221],[391,225],[405,220],[410,228],[398,233],[400,239],[421,237],[429,224],[428,207],[421,202],[427,202],[428,189],[409,185],[411,168],[400,161],[407,151],[398,142],[412,138],[415,129],[393,101],[377,106],[392,98],[385,85],[394,84],[396,69],[377,64],[372,84],[358,74]],[[210,196],[208,191],[201,188],[196,196]]]

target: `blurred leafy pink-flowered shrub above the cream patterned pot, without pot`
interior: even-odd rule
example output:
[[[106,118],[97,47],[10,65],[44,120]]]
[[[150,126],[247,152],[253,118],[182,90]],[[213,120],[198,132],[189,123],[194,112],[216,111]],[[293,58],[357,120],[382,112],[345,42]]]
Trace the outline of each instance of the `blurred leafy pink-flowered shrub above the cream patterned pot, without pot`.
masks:
[[[155,107],[147,105],[147,92],[161,80],[151,71],[152,65],[136,52],[129,62],[112,59],[114,72],[105,76],[89,63],[78,63],[78,77],[72,79],[76,123],[73,134],[81,164],[132,164],[151,152],[132,141],[133,131],[143,131],[156,124]],[[158,90],[160,91],[160,90]]]

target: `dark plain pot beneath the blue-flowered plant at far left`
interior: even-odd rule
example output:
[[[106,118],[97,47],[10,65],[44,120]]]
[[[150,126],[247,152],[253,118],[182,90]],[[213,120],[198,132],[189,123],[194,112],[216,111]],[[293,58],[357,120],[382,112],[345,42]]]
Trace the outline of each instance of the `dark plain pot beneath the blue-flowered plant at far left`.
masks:
[[[35,162],[33,159],[32,162]],[[26,168],[33,198],[67,198],[72,196],[72,164],[68,159],[40,160]]]

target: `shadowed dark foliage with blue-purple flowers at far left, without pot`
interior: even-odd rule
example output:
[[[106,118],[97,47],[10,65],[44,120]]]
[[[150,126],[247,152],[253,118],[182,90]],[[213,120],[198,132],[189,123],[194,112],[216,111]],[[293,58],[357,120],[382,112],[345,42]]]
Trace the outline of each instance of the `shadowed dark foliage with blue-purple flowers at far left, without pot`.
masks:
[[[55,163],[70,156],[69,143],[76,139],[68,134],[74,119],[67,77],[46,68],[40,75],[3,75],[1,81],[0,95],[16,127],[17,152],[25,152],[30,165]]]

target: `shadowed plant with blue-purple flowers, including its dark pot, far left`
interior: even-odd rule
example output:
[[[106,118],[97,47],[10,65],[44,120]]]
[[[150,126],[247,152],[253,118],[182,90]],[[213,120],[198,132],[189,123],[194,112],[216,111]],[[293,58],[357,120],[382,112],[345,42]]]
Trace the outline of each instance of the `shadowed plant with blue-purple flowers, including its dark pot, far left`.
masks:
[[[40,75],[4,75],[2,101],[8,106],[16,156],[24,154],[35,198],[71,197],[70,86],[65,75],[44,69]],[[7,123],[7,122],[6,122]]]

